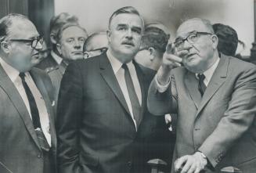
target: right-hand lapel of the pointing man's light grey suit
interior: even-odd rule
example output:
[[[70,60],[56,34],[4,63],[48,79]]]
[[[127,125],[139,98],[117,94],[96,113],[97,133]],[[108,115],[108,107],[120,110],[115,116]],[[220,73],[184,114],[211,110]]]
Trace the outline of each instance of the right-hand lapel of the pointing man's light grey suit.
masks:
[[[211,77],[211,81],[207,85],[207,88],[204,92],[204,96],[197,110],[197,115],[200,114],[200,111],[203,110],[204,106],[206,106],[211,97],[214,96],[215,92],[218,91],[218,88],[220,88],[222,84],[225,82],[228,66],[229,58],[222,56],[218,63],[218,67],[215,69],[215,72]]]

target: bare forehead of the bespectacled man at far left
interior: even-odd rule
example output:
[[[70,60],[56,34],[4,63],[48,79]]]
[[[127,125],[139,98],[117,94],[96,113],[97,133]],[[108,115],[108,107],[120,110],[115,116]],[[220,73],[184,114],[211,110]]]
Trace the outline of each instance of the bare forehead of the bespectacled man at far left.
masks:
[[[30,20],[13,20],[8,28],[8,36],[12,38],[36,38],[38,31]]]

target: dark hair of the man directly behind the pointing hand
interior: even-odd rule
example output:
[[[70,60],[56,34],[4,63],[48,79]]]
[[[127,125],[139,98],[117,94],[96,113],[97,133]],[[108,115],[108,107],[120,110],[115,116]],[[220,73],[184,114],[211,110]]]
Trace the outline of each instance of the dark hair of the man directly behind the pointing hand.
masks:
[[[170,38],[169,34],[166,34],[163,30],[158,27],[145,27],[144,34],[142,36],[141,49],[147,49],[153,47],[159,52],[165,52],[168,40]]]

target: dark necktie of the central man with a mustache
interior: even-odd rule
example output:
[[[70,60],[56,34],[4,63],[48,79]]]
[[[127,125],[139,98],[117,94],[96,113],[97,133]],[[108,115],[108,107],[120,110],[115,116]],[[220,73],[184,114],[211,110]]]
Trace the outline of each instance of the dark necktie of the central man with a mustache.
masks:
[[[131,74],[128,70],[127,65],[124,63],[122,65],[122,68],[124,69],[125,83],[126,83],[127,90],[128,90],[128,95],[130,97],[131,104],[132,104],[133,117],[134,117],[134,119],[136,121],[136,124],[137,124],[137,127],[138,127],[138,125],[139,125],[139,114],[140,114],[139,99],[138,99],[138,96],[136,95],[135,87],[133,85],[132,77],[131,77]]]

